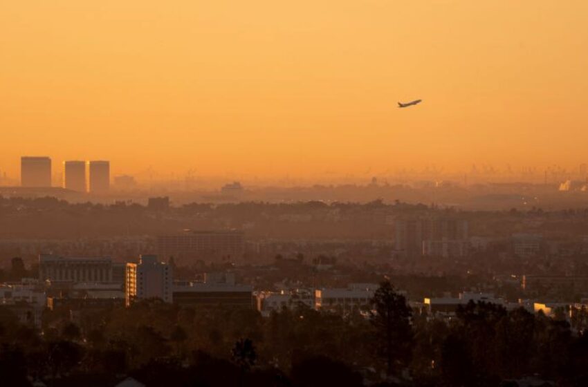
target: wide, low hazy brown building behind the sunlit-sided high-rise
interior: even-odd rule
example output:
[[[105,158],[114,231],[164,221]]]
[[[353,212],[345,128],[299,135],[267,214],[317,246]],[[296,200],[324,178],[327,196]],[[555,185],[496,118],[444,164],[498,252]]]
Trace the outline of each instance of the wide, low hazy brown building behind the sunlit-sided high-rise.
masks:
[[[186,230],[181,234],[158,236],[157,250],[160,256],[173,256],[176,262],[182,263],[196,259],[237,258],[244,252],[244,235],[235,230]]]

